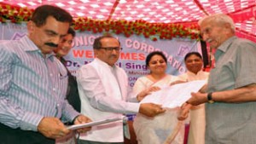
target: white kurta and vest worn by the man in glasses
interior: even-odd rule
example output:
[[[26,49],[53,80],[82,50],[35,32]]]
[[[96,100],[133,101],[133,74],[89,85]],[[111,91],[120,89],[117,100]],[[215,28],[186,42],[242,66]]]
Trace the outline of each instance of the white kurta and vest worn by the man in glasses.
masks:
[[[120,67],[109,66],[96,58],[90,64],[79,68],[77,80],[81,113],[92,120],[121,116],[122,113],[138,112],[138,103],[126,102],[129,99],[128,78]],[[124,141],[123,123],[114,122],[94,126],[89,132],[81,134],[80,139],[122,142]]]

